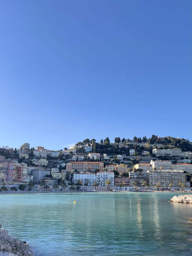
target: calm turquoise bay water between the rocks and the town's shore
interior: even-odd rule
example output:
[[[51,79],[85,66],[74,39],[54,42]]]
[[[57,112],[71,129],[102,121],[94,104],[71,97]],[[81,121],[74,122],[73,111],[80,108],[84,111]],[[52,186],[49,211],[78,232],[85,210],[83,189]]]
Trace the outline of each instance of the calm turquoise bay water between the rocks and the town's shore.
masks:
[[[174,195],[2,194],[0,222],[35,256],[192,255],[192,205]]]

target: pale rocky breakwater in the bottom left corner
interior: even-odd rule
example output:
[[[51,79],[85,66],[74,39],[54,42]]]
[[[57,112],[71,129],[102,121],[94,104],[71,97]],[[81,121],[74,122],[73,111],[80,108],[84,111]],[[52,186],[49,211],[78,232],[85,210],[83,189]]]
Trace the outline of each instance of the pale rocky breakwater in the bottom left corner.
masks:
[[[0,228],[0,255],[34,256],[34,253],[26,242],[12,238],[6,229]]]

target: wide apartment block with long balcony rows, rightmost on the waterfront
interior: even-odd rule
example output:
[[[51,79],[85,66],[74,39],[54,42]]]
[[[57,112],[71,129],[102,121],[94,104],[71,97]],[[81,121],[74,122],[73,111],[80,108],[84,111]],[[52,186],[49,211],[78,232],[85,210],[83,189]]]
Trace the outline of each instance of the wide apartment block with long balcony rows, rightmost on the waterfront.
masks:
[[[190,187],[187,183],[186,173],[183,171],[172,170],[150,170],[149,171],[149,185],[155,187],[157,183],[161,183],[161,187],[168,188],[169,183],[173,183],[173,187],[180,187],[179,182],[185,183],[186,187]],[[190,183],[190,182],[189,182]]]

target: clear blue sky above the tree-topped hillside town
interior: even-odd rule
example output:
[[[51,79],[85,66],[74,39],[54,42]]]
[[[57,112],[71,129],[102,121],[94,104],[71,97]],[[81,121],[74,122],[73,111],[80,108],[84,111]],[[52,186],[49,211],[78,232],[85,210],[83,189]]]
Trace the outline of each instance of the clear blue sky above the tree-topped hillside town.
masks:
[[[191,1],[4,0],[0,146],[191,141]]]

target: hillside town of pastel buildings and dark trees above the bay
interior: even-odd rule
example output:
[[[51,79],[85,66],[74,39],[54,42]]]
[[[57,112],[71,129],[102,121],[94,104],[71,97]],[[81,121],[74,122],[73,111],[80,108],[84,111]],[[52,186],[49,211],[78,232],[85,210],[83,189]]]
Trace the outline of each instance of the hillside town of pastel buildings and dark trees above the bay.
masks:
[[[0,148],[0,191],[192,191],[192,143],[184,138],[85,139],[53,151]]]

